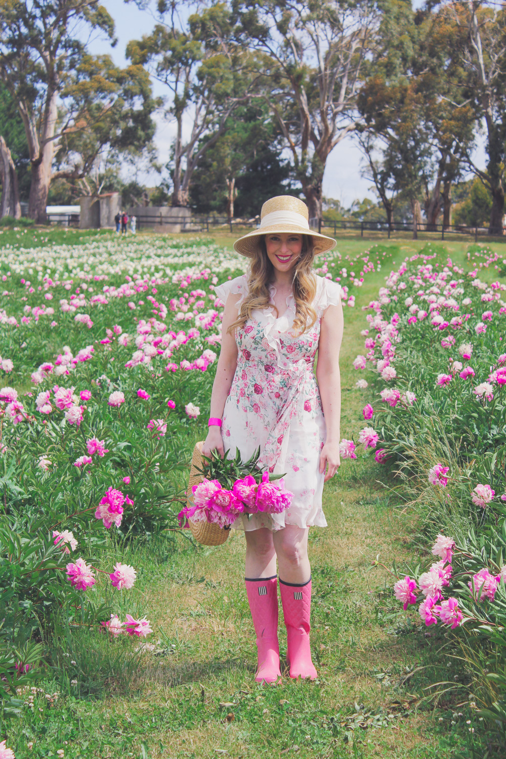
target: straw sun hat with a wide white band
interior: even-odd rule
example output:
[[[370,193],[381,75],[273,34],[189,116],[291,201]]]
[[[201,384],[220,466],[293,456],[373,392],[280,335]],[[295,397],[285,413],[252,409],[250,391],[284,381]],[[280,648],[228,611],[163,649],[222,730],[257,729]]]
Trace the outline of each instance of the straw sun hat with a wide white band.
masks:
[[[277,195],[272,197],[262,206],[260,212],[260,226],[248,235],[234,242],[234,250],[243,256],[252,257],[262,235],[280,234],[282,232],[295,232],[297,235],[310,235],[313,238],[313,246],[316,254],[332,250],[336,245],[333,238],[319,235],[310,229],[310,214],[306,203],[292,195]]]

